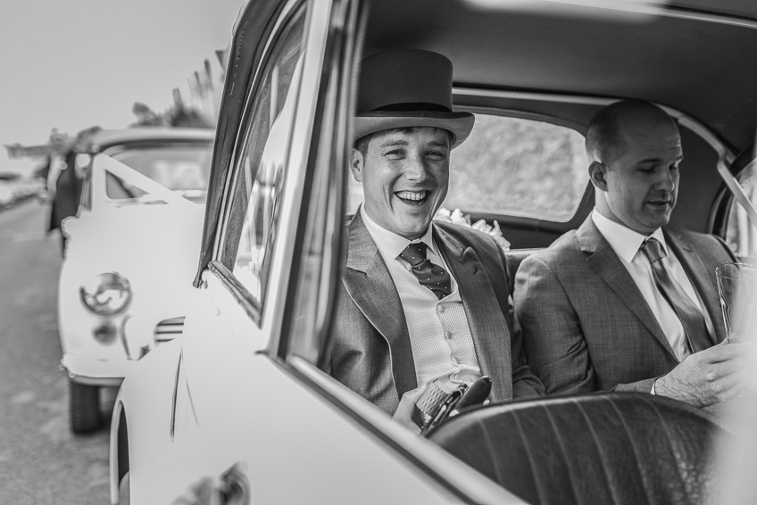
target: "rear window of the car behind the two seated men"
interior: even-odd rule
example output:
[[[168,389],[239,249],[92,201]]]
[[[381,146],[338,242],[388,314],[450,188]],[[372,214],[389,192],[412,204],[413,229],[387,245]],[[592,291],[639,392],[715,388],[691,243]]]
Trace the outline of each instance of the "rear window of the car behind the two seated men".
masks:
[[[452,152],[450,187],[443,206],[566,222],[586,192],[584,136],[539,120],[476,113],[470,137]],[[350,178],[349,211],[362,202]]]

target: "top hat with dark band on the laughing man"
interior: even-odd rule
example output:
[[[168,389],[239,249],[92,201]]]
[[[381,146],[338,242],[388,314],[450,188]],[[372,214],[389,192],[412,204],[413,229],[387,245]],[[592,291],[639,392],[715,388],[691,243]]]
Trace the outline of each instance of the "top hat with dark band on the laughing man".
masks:
[[[417,49],[373,54],[362,61],[354,139],[390,128],[444,128],[452,147],[470,135],[475,117],[453,112],[452,62]]]

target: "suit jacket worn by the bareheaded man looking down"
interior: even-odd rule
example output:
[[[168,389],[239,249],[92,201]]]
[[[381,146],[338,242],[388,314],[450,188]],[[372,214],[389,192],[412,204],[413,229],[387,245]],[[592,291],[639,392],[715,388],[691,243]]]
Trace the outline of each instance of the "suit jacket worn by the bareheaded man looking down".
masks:
[[[718,237],[663,229],[715,330],[725,338],[715,267],[736,261]],[[649,392],[678,365],[649,304],[591,216],[520,263],[516,315],[528,363],[550,393]]]

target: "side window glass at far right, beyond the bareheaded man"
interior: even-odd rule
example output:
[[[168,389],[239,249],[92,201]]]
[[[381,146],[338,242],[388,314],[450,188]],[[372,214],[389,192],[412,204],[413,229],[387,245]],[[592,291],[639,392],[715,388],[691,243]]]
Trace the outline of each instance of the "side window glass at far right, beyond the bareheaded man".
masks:
[[[736,177],[754,207],[757,207],[757,162],[752,162]],[[744,207],[734,201],[728,214],[726,241],[744,261],[757,260],[757,223],[750,221]]]

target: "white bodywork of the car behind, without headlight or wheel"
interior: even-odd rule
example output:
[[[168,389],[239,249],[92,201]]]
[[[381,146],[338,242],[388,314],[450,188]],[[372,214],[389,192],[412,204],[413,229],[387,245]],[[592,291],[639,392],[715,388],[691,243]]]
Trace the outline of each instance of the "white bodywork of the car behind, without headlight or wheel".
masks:
[[[95,151],[167,142],[209,149],[211,140],[208,131],[104,130],[96,136]],[[105,153],[93,152],[89,161],[87,205],[62,223],[67,243],[58,284],[61,365],[75,382],[118,385],[130,362],[156,345],[159,323],[183,316],[186,299],[195,294],[187,274],[194,270],[204,204],[189,202]],[[113,201],[106,196],[106,174],[130,181],[150,198]],[[99,315],[85,307],[79,289],[108,272],[127,279],[131,300],[120,313]],[[113,328],[110,342],[93,337],[101,325]]]

